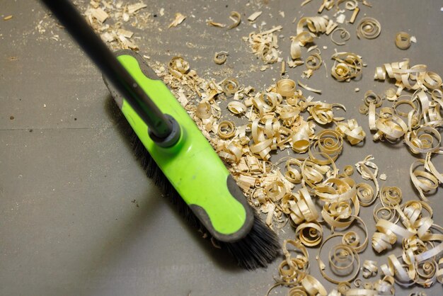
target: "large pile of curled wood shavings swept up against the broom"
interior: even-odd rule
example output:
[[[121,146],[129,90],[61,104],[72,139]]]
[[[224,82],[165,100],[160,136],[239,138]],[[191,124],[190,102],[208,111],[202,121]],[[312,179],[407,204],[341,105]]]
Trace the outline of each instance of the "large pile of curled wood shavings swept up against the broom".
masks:
[[[262,92],[255,92],[251,86],[243,87],[234,78],[220,82],[202,79],[188,66],[183,67],[183,64],[187,64],[183,59],[179,64],[182,67],[171,68],[170,63],[168,70],[157,64],[156,73],[171,87],[219,156],[226,161],[249,202],[267,215],[267,224],[280,228],[289,221],[294,225],[297,239],[285,244],[297,246],[303,253],[304,246],[318,246],[321,241],[325,244],[326,241],[341,236],[345,243],[335,247],[353,250],[352,258],[359,260],[358,254],[366,249],[369,240],[367,231],[366,238],[361,241],[354,232],[335,234],[333,229],[346,229],[356,221],[362,222],[358,217],[359,207],[369,206],[377,199],[380,200],[382,207],[379,210],[376,210],[377,206],[374,207],[378,232],[372,237],[372,246],[376,251],[383,251],[397,237],[403,238],[403,244],[406,244],[403,248],[403,263],[397,257],[389,256],[389,264],[380,267],[384,274],[381,280],[362,283],[359,279],[355,280],[357,272],[343,282],[340,277],[335,279],[327,275],[320,250],[317,260],[323,277],[338,284],[337,290],[331,291],[330,295],[392,295],[395,293],[393,283],[405,287],[422,285],[427,288],[437,280],[443,280],[443,272],[439,271],[442,260],[437,261],[437,255],[443,251],[443,244],[435,243],[443,238],[441,228],[432,222],[430,207],[416,201],[401,205],[401,191],[396,188],[379,188],[378,167],[372,162],[371,156],[359,161],[356,167],[362,178],[374,182],[375,190],[367,183],[356,184],[351,178],[352,169],[345,168],[343,173],[339,173],[336,168],[334,161],[342,151],[343,138],[350,144],[358,144],[364,140],[364,132],[355,120],[345,122],[344,118],[333,115],[333,104],[313,101],[312,97],[305,98],[290,79],[282,79]],[[425,76],[422,75],[422,81],[425,81]],[[438,89],[441,86],[439,76],[430,72],[426,77],[426,84],[437,89],[432,94],[438,101],[441,96]],[[404,85],[398,86],[401,88]],[[369,95],[367,93],[365,96],[370,105],[372,97]],[[198,99],[190,101],[192,97]],[[228,108],[231,113],[248,119],[246,125],[236,127],[233,122],[223,120],[219,103],[224,99],[229,100]],[[431,106],[435,107],[432,104]],[[306,120],[303,114],[308,115]],[[432,116],[435,117],[431,115],[431,118]],[[316,125],[327,123],[334,123],[335,130],[316,132]],[[270,163],[272,151],[287,148],[292,148],[297,153],[308,152],[309,156],[284,157],[277,164]],[[285,169],[280,169],[279,164],[285,164]],[[295,185],[301,185],[301,188],[294,190]],[[323,203],[321,213],[313,206],[313,197]],[[393,219],[398,217],[396,222],[401,220],[406,229],[401,230],[395,221],[387,220],[385,214],[379,217],[381,212],[391,212]],[[324,226],[318,223],[319,215],[322,215],[333,232],[326,239],[323,239]],[[425,241],[423,247],[416,248],[422,241]],[[430,241],[432,243],[428,247]],[[346,254],[350,255],[349,252]],[[306,273],[306,264],[309,264],[307,251],[304,257],[293,257],[288,251],[285,256],[286,259],[279,268],[280,280],[273,287],[285,285],[292,287],[289,292],[304,291],[305,295],[326,295],[323,285]],[[330,257],[328,260],[333,262],[335,259]],[[378,270],[376,263],[368,264],[365,277]],[[351,280],[355,280],[355,288],[351,288]]]

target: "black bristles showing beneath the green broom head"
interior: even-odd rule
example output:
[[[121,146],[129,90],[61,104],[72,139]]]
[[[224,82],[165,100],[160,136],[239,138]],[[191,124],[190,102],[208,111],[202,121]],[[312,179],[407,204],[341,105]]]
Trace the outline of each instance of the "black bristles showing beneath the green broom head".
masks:
[[[151,157],[151,154],[147,152],[137,135],[134,132],[132,132],[132,134],[134,154],[146,171],[146,176],[151,178],[156,186],[159,186],[159,188],[163,190],[164,195],[171,201],[171,203],[173,203],[173,205],[176,205],[180,215],[183,215],[188,224],[209,234],[198,217],[180,197],[176,189],[173,188],[172,184],[168,181],[168,178],[166,178],[163,171],[157,166],[156,162]],[[253,210],[253,212],[253,227],[246,237],[234,243],[217,241],[214,239],[214,242],[221,246],[222,249],[227,249],[229,251],[238,262],[238,266],[250,270],[266,267],[268,263],[271,263],[280,254],[280,244],[277,235],[275,232],[272,232],[262,220],[260,220],[260,217],[258,217],[255,210]]]

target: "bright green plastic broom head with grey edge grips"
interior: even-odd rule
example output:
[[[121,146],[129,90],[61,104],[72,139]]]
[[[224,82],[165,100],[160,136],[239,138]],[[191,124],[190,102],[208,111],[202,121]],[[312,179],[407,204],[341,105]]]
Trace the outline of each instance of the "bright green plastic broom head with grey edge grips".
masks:
[[[156,106],[180,125],[178,142],[172,147],[159,147],[149,137],[146,123],[107,83],[128,123],[168,181],[214,238],[234,242],[246,237],[253,227],[253,210],[197,125],[140,55],[131,50],[115,54]]]

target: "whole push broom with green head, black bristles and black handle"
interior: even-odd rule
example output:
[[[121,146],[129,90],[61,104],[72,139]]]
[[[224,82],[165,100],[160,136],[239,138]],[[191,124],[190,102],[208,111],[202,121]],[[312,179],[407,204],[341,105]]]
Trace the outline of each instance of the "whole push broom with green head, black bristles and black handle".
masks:
[[[275,233],[248,205],[168,87],[136,52],[110,52],[68,0],[42,1],[103,72],[106,86],[137,135],[134,151],[147,175],[239,266],[267,266],[280,252]]]

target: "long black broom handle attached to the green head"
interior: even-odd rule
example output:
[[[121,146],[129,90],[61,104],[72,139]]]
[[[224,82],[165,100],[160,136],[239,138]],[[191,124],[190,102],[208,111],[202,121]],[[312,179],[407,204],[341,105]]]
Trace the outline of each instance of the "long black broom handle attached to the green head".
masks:
[[[149,132],[161,139],[168,137],[173,128],[171,121],[139,87],[125,67],[117,61],[113,52],[93,32],[74,5],[68,0],[42,0],[42,2],[57,16],[81,48],[144,120],[149,127]]]

